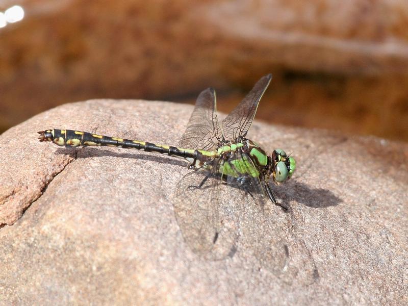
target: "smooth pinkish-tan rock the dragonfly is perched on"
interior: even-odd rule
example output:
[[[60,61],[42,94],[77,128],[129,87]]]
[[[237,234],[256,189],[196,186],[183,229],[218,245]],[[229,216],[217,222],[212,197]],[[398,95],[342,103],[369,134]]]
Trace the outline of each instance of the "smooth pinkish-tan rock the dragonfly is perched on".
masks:
[[[408,303],[406,144],[254,122],[251,139],[297,159],[293,180],[274,188],[290,209],[231,190],[224,225],[237,239],[208,260],[183,239],[188,215],[175,218],[183,161],[36,139],[61,127],[176,145],[191,111],[90,100],[0,136],[0,303]]]

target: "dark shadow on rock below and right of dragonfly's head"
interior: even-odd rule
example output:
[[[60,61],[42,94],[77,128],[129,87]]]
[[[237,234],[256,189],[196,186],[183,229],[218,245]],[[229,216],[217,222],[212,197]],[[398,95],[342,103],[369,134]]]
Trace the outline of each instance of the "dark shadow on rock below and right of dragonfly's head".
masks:
[[[294,200],[311,208],[327,208],[337,206],[343,200],[333,192],[323,188],[310,188],[308,185],[296,181],[288,182],[285,188],[274,188],[278,198],[282,198],[284,205]]]

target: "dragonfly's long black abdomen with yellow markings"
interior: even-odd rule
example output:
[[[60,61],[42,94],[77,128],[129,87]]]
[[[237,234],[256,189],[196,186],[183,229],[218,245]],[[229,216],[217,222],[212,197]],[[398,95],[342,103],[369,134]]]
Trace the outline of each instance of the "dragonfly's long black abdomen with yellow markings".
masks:
[[[40,141],[52,141],[59,146],[120,146],[123,148],[138,149],[147,152],[157,152],[169,156],[182,157],[189,162],[194,161],[197,157],[196,150],[181,149],[174,146],[155,144],[140,140],[129,140],[124,138],[97,135],[88,132],[53,129],[41,131],[38,133],[40,134]]]

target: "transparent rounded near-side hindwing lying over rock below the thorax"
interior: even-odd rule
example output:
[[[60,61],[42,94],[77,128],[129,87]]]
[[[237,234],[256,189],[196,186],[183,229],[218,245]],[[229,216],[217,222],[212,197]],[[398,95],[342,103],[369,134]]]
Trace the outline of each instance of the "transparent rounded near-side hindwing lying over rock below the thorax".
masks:
[[[238,240],[238,220],[231,189],[220,180],[220,159],[186,174],[177,184],[174,212],[190,249],[207,260],[231,256]]]

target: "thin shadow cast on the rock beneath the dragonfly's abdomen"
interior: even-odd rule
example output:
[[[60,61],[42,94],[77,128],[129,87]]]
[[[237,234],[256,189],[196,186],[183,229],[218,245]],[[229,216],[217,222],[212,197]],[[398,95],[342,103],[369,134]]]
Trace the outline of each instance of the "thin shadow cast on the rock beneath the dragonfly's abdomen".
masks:
[[[55,154],[71,154],[71,151],[72,149],[59,148],[56,150]],[[182,160],[164,157],[163,155],[140,154],[140,152],[120,153],[120,152],[114,152],[110,150],[97,149],[97,148],[91,148],[91,147],[81,148],[76,151],[77,159],[90,158],[90,157],[105,157],[105,156],[111,156],[111,157],[117,157],[117,158],[132,158],[132,159],[137,159],[137,160],[152,161],[152,162],[158,162],[161,164],[170,164],[170,165],[183,166],[183,167],[188,166],[188,164]]]

